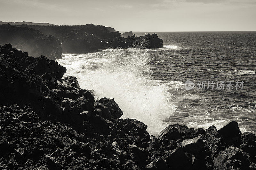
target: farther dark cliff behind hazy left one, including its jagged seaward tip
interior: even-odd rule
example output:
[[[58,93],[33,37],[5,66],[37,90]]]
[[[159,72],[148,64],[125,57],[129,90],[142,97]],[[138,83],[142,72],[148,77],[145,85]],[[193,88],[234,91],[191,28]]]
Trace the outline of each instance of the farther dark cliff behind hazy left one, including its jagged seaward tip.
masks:
[[[17,25],[18,26],[18,25]],[[122,38],[119,32],[109,31],[102,25],[19,25],[39,30],[45,35],[52,34],[61,43],[63,53],[90,53],[104,48],[160,48],[163,40],[156,34],[143,37]]]

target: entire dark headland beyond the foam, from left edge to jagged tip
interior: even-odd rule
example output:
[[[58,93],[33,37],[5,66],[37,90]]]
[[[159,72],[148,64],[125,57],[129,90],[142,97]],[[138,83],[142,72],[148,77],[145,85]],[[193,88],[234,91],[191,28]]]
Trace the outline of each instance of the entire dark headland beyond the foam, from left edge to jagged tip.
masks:
[[[0,44],[7,43],[49,59],[61,58],[62,53],[91,53],[106,48],[163,47],[163,40],[156,34],[124,38],[113,28],[93,24],[0,25]]]

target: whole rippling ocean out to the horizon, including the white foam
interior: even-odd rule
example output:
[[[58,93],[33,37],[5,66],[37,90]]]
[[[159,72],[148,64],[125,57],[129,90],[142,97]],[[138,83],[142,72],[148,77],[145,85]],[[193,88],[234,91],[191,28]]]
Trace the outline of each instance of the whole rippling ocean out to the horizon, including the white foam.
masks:
[[[149,33],[164,48],[65,53],[57,61],[81,88],[114,98],[121,118],[142,121],[150,134],[176,123],[220,129],[232,120],[256,133],[256,32]]]

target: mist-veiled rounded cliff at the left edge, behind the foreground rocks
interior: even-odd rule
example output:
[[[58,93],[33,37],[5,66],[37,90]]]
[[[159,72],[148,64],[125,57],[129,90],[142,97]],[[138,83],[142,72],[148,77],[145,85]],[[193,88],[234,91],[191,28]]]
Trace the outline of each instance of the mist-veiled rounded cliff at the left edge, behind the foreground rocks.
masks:
[[[0,25],[0,44],[12,43],[13,47],[27,51],[35,57],[44,55],[50,59],[61,58],[59,41],[40,31],[11,25]]]

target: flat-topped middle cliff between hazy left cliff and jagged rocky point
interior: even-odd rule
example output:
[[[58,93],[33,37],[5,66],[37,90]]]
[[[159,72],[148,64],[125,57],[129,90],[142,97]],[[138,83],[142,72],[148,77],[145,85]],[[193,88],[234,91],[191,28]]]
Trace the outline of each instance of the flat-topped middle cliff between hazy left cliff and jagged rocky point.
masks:
[[[119,32],[111,32],[102,25],[17,25],[39,30],[45,35],[52,34],[60,41],[63,53],[89,53],[105,48]]]

